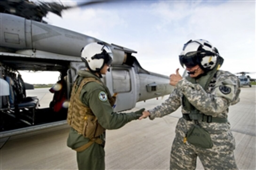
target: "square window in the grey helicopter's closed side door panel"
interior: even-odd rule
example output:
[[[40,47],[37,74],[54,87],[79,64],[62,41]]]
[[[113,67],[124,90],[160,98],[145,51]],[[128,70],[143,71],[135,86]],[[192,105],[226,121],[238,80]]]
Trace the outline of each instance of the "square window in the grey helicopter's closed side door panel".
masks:
[[[131,76],[128,70],[112,69],[113,92],[131,91]]]

